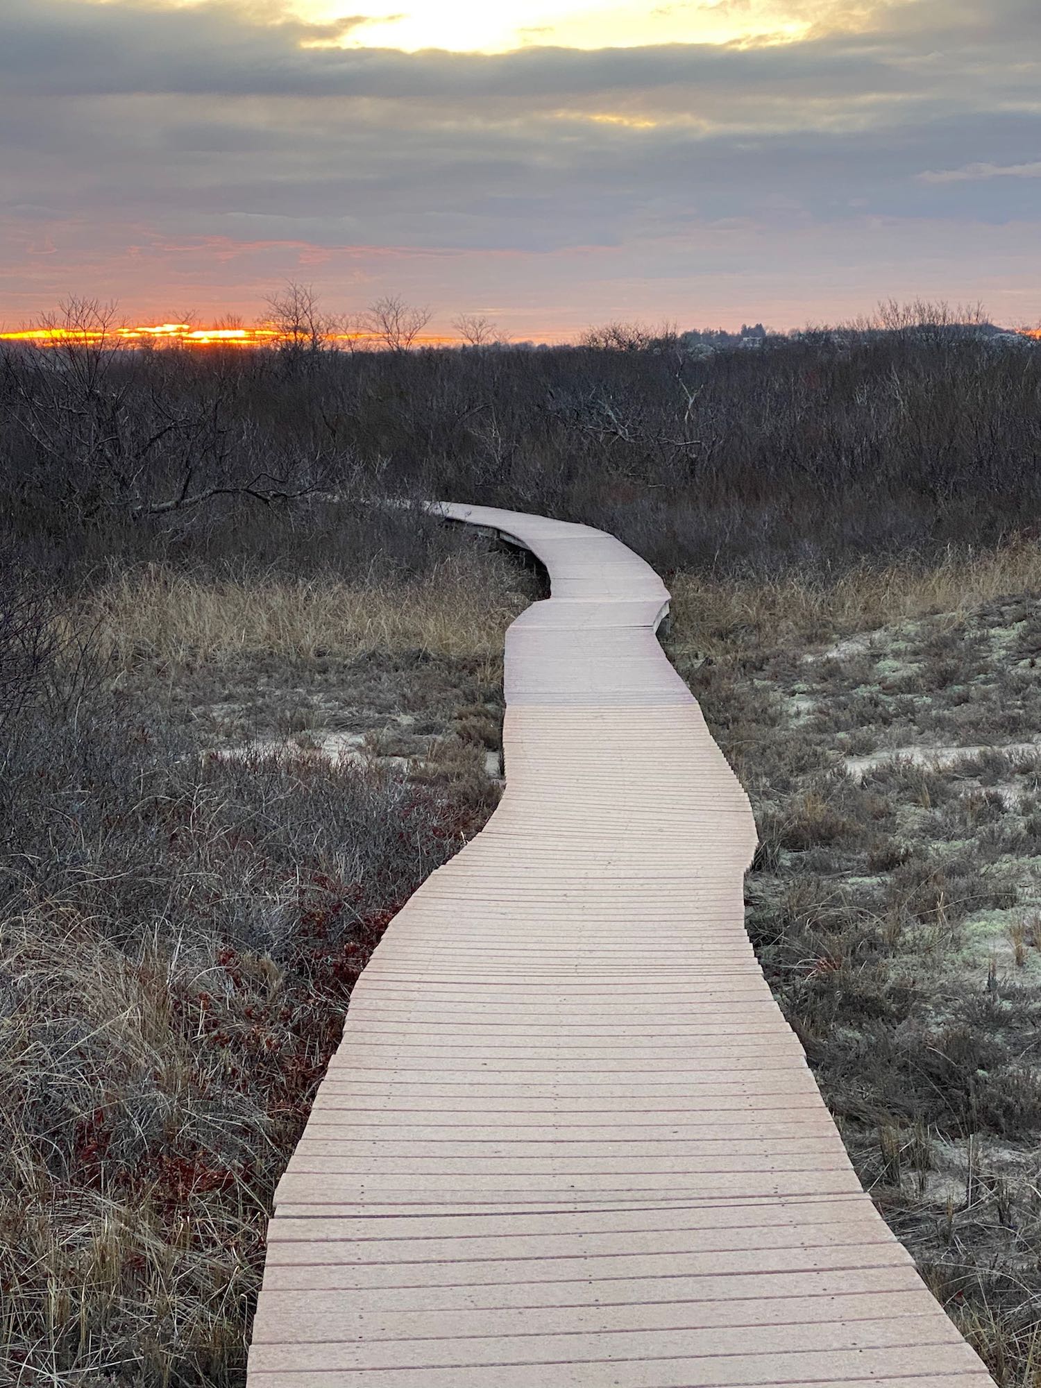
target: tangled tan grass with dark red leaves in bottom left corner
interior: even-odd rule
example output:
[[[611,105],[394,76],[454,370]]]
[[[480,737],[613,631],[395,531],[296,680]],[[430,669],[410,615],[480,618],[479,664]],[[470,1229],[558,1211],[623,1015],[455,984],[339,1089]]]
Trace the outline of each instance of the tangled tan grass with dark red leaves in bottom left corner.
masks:
[[[242,1359],[268,1190],[293,1131],[262,1098],[218,1097],[228,1062],[207,1065],[215,1048],[193,1037],[182,1005],[226,970],[218,951],[193,942],[178,958],[160,934],[118,947],[54,904],[0,930],[3,970],[19,979],[0,1048],[8,1382],[121,1364],[146,1382],[193,1371],[221,1382]],[[243,962],[254,1002],[293,1001],[269,959]],[[201,1008],[194,1020],[201,1030]]]

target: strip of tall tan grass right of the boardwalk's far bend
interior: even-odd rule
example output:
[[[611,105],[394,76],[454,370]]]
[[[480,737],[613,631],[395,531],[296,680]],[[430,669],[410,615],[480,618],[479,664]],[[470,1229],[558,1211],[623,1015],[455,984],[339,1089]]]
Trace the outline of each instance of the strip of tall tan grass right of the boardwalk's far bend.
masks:
[[[1016,537],[999,550],[948,552],[931,565],[861,565],[833,579],[719,580],[680,572],[672,589],[673,644],[718,655],[741,644],[806,643],[945,613],[952,622],[1008,594],[1041,591],[1041,547]]]

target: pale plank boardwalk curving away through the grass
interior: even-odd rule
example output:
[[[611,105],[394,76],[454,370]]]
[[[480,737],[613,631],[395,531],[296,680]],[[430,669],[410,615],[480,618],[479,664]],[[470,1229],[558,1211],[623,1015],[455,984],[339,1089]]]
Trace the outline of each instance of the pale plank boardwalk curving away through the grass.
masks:
[[[507,637],[508,786],[387,930],[278,1191],[251,1388],[985,1388],[744,931],[744,791],[587,526]]]

